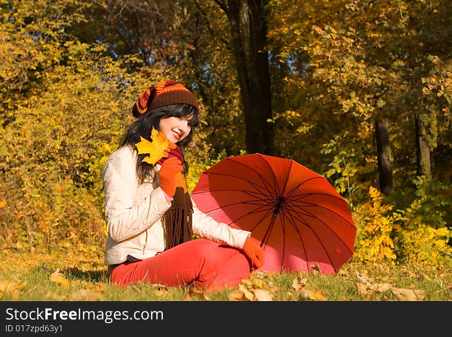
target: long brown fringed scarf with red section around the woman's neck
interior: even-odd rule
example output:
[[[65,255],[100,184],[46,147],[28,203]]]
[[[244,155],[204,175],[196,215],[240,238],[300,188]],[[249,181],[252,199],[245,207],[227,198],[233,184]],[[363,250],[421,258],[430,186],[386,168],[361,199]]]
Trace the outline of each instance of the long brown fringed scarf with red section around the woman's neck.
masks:
[[[170,157],[176,157],[181,163],[184,163],[182,151],[176,146],[170,150],[168,156],[162,157],[157,164],[162,165]],[[192,240],[193,205],[182,172],[176,175],[175,184],[176,192],[171,207],[162,216],[165,231],[165,250]]]

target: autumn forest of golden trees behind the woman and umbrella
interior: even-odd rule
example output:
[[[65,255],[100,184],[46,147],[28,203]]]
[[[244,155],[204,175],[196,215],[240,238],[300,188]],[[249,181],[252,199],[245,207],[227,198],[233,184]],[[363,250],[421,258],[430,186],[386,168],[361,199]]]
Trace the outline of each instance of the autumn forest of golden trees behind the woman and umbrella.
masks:
[[[102,259],[101,170],[146,87],[201,103],[189,188],[260,152],[324,175],[352,262],[449,266],[449,0],[1,1],[0,241]],[[3,253],[6,252],[3,250]]]

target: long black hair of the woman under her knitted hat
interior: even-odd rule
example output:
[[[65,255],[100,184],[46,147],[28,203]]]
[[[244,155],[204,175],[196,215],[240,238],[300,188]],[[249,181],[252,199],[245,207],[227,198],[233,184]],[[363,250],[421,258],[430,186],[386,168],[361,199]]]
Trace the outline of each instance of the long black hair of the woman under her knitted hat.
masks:
[[[160,131],[159,124],[162,118],[182,116],[192,116],[189,121],[189,125],[191,126],[190,133],[182,141],[176,143],[183,154],[184,149],[190,144],[193,139],[194,128],[196,128],[199,124],[198,110],[194,106],[189,104],[167,105],[147,111],[143,115],[140,115],[138,120],[134,124],[132,124],[125,132],[119,147],[126,145],[134,149],[135,151],[138,151],[135,144],[141,141],[140,137],[151,141],[150,133],[153,128],[157,131]],[[139,154],[137,160],[137,174],[141,183],[146,178],[152,179],[151,171],[154,168],[154,165],[142,162],[143,158],[146,156],[147,154]],[[189,165],[187,162],[185,162],[185,159],[183,162],[183,167],[183,174],[186,175],[189,171]]]

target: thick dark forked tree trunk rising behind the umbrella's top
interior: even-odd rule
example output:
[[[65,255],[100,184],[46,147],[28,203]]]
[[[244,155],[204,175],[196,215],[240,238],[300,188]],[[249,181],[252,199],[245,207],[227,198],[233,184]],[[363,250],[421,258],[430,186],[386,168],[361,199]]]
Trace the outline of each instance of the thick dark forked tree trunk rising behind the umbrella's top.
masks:
[[[267,43],[267,24],[263,13],[268,1],[248,2],[246,43],[240,31],[242,27],[240,0],[228,0],[226,11],[231,23],[232,42],[237,66],[240,94],[246,123],[246,143],[248,153],[273,154],[273,123],[271,86]],[[222,7],[224,10],[225,8]]]

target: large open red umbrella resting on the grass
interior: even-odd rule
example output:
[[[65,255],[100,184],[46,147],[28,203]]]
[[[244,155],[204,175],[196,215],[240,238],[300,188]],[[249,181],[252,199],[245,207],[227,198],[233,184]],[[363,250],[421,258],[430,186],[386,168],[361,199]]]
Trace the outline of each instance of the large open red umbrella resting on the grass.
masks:
[[[336,273],[353,255],[356,226],[325,177],[293,160],[227,157],[205,170],[192,198],[218,222],[251,231],[265,251],[259,270]]]

